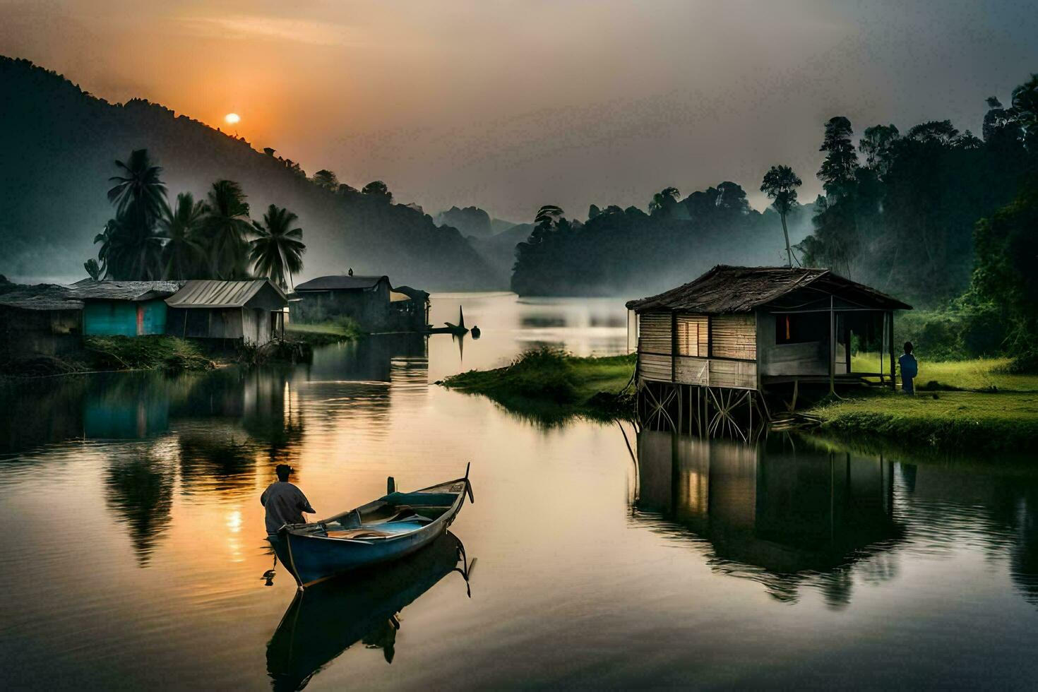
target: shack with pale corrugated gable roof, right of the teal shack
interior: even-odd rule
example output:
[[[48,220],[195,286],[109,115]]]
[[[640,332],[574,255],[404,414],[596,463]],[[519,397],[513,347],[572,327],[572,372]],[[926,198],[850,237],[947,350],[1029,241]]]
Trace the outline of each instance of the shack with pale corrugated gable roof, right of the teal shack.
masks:
[[[284,336],[289,300],[269,279],[187,281],[166,299],[166,333],[263,345]]]

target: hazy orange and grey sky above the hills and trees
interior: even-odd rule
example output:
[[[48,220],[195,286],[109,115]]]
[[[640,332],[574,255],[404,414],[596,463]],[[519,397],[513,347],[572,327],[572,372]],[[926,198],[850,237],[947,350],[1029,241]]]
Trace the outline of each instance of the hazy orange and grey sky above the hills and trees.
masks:
[[[97,95],[237,112],[309,173],[515,221],[723,179],[760,207],[774,163],[812,199],[828,117],[979,135],[1036,36],[1033,0],[0,0],[0,53]]]

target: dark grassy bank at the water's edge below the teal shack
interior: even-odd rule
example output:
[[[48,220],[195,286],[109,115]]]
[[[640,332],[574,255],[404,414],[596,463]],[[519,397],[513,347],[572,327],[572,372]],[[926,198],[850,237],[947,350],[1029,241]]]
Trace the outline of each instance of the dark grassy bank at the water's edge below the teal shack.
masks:
[[[86,336],[83,348],[95,369],[209,370],[214,366],[197,344],[175,336]]]

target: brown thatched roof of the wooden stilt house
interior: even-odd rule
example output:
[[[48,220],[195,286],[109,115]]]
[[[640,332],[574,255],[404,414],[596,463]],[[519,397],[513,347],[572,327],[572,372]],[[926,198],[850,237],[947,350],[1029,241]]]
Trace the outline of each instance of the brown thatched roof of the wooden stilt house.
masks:
[[[749,312],[807,286],[851,300],[863,307],[910,310],[911,306],[827,269],[729,267],[718,265],[700,278],[658,296],[627,302],[636,312],[681,310],[699,314]]]

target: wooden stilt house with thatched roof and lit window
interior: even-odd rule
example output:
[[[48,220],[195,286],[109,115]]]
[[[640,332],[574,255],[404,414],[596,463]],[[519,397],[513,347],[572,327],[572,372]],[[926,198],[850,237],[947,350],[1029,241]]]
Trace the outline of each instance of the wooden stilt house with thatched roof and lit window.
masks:
[[[825,269],[717,266],[627,308],[648,410],[673,420],[675,398],[682,418],[703,402],[715,411],[746,404],[760,421],[768,414],[759,395],[784,385],[794,406],[801,386],[893,386],[894,311],[911,306]],[[853,367],[855,349],[875,354],[874,363]]]

